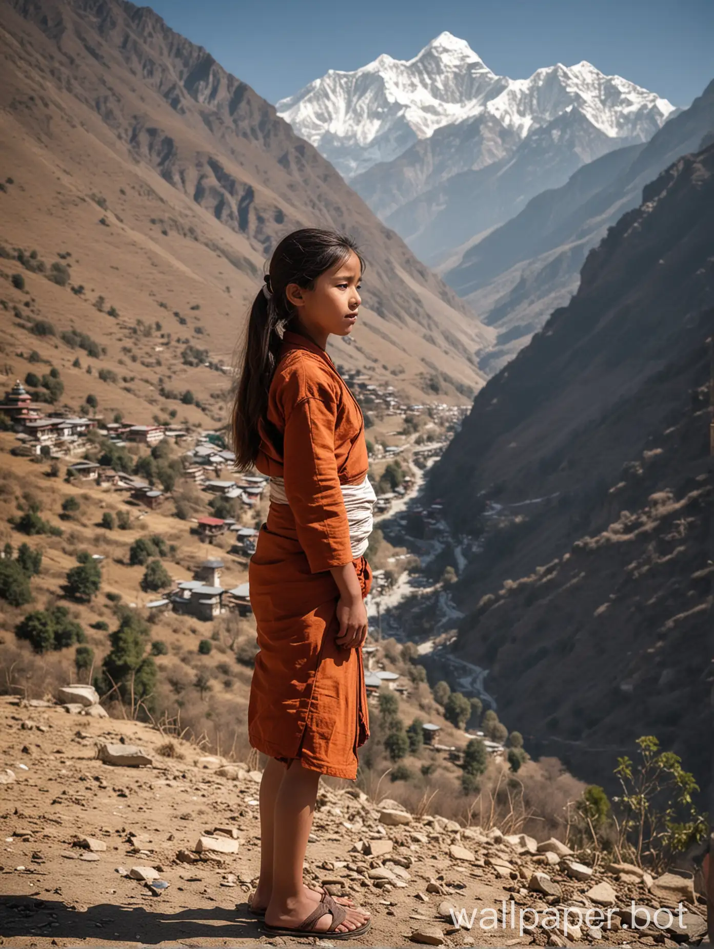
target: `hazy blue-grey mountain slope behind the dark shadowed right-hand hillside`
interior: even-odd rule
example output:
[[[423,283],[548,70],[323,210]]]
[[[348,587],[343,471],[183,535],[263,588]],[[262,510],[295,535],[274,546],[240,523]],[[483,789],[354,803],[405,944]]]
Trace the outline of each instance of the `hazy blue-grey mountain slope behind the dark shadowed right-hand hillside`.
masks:
[[[642,189],[652,178],[681,155],[703,148],[712,129],[714,83],[647,144],[590,162],[439,268],[498,332],[496,344],[479,361],[485,372],[492,375],[503,368],[550,313],[568,303],[588,251],[641,202]]]

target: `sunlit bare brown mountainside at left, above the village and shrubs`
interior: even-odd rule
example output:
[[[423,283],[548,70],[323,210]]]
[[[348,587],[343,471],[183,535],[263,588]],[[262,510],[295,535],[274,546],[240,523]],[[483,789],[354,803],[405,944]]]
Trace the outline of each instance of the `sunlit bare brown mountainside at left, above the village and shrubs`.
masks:
[[[72,295],[38,265],[25,274],[33,317],[58,332],[84,327],[115,373],[122,330],[158,320],[158,332],[172,334],[171,343],[151,341],[163,348],[165,375],[208,403],[229,381],[200,364],[188,373],[176,337],[208,351],[199,363],[229,366],[277,240],[297,227],[335,227],[354,233],[370,260],[362,319],[354,340],[333,347],[336,360],[403,386],[412,400],[436,379],[456,401],[481,384],[474,353],[492,332],[272,106],[150,9],[3,4],[0,50],[0,242],[11,255],[36,251],[46,272],[58,253],[71,255],[62,258],[71,285],[84,288]],[[9,277],[11,261],[2,267]],[[119,320],[92,308],[99,297]],[[10,325],[4,340],[22,348],[24,336]],[[154,353],[151,345],[137,356],[154,368]],[[6,355],[11,379],[19,369]],[[67,388],[83,386],[71,366],[67,374]],[[143,403],[137,420],[148,421],[158,385],[156,373],[141,375],[128,405],[134,414]],[[113,383],[105,395],[112,408],[125,401]]]

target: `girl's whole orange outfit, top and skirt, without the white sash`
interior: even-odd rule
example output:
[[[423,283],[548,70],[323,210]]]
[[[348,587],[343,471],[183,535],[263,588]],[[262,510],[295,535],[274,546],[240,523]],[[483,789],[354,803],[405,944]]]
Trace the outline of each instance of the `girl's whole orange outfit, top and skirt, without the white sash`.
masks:
[[[287,331],[261,420],[255,467],[284,477],[289,504],[271,503],[250,559],[259,652],[248,736],[258,751],[336,777],[357,777],[369,737],[362,650],[342,649],[331,567],[352,561],[367,596],[372,570],[354,559],[340,484],[367,474],[364,419],[327,353]]]

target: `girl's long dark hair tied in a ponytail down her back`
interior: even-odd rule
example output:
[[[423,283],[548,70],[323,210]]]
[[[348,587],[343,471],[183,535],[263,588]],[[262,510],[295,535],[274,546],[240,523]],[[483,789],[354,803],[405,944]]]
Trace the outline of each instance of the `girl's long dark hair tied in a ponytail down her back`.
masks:
[[[283,334],[296,315],[285,296],[288,284],[312,289],[326,270],[344,263],[355,252],[362,271],[365,262],[357,244],[347,234],[302,228],[289,233],[270,259],[265,287],[260,288],[250,307],[242,368],[233,403],[232,429],[235,468],[247,471],[260,448],[258,421],[267,416],[267,396]]]

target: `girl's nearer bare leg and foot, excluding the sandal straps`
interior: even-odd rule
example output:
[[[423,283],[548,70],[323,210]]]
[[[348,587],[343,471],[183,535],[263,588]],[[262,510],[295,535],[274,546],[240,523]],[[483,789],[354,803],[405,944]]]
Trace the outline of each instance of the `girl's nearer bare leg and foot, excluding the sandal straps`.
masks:
[[[303,768],[300,760],[291,761],[275,801],[273,822],[273,875],[270,902],[265,922],[271,926],[299,926],[317,907],[320,894],[302,883],[302,863],[307,838],[312,828],[315,799],[320,772]],[[345,906],[345,920],[339,931],[357,929],[369,913]],[[315,924],[315,931],[325,930],[332,916],[325,914]]]

